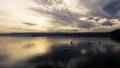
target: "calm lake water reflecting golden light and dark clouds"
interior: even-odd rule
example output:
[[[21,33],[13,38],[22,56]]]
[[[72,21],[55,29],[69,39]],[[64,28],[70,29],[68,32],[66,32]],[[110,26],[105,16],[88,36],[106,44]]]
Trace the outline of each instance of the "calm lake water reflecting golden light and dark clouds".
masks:
[[[120,42],[95,37],[0,37],[0,68],[120,68]]]

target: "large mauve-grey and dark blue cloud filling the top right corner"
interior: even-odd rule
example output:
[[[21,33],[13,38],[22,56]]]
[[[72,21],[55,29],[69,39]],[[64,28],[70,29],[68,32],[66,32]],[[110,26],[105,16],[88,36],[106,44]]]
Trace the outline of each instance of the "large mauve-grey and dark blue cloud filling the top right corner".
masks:
[[[78,0],[83,6],[90,9],[88,16],[102,18],[120,17],[120,0]],[[118,15],[119,14],[119,15]]]

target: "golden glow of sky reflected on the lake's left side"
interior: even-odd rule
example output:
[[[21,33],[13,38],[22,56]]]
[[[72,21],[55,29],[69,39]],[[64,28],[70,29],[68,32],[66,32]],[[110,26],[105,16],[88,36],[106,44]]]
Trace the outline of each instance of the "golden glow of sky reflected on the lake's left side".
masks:
[[[47,38],[0,38],[0,56],[7,56],[8,60],[0,62],[0,66],[6,66],[30,58],[34,55],[42,55],[50,48]],[[2,59],[3,60],[3,59]]]

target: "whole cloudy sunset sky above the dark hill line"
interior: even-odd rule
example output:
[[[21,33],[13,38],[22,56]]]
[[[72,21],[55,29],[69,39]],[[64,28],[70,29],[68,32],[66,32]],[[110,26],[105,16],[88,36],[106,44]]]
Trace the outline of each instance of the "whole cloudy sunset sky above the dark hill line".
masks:
[[[0,0],[0,33],[120,29],[120,0]]]

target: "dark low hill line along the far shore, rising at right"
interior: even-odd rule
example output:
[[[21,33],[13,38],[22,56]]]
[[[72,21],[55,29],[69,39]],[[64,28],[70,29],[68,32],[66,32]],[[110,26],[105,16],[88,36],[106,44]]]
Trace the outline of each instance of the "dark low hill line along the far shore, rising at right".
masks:
[[[0,36],[24,36],[24,37],[39,37],[39,36],[76,36],[76,37],[120,37],[120,29],[112,32],[86,32],[86,33],[66,33],[66,32],[54,32],[54,33],[8,33],[0,34]]]

